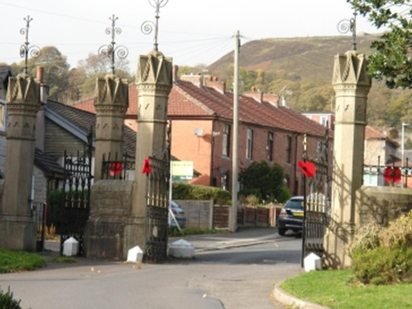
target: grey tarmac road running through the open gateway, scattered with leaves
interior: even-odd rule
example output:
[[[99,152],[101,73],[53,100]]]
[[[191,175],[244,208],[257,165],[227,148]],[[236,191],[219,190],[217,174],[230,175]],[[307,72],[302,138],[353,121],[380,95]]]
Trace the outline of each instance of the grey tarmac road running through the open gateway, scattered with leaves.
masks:
[[[79,259],[27,273],[0,275],[23,308],[283,308],[273,285],[301,272],[301,238],[275,229],[190,236],[193,260],[124,264]],[[171,239],[172,242],[174,239]]]

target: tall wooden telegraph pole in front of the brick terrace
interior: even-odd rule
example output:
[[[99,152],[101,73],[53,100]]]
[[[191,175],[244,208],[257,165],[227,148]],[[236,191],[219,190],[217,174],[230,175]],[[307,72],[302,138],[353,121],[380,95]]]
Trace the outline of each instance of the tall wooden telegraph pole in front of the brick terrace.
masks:
[[[238,134],[239,134],[239,30],[235,33],[235,63],[233,70],[233,142],[232,142],[232,207],[229,212],[229,231],[236,232],[238,221]]]

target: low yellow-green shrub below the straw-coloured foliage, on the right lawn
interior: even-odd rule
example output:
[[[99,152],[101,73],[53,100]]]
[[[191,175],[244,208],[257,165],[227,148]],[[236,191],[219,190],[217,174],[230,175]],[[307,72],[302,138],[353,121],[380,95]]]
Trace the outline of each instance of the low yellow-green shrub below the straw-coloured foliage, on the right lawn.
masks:
[[[356,279],[364,284],[412,282],[412,248],[378,247],[355,253],[352,262]]]

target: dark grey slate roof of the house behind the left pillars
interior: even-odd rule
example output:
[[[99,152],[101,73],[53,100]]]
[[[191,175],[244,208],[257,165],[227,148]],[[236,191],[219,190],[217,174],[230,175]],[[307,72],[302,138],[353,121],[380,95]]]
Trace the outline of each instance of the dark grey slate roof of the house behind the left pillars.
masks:
[[[84,130],[85,133],[89,133],[90,130],[92,130],[93,137],[95,137],[95,114],[52,100],[47,101],[47,108],[50,108],[75,126],[78,126],[78,128]],[[136,152],[136,133],[126,126],[124,127],[124,141],[124,151],[134,157]]]

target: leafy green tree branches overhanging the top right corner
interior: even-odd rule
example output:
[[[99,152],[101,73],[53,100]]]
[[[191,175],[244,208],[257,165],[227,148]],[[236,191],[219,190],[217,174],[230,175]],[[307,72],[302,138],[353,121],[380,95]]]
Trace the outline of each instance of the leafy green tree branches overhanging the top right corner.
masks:
[[[369,75],[389,88],[412,88],[412,4],[409,0],[347,0],[378,29],[389,27],[371,47]]]

